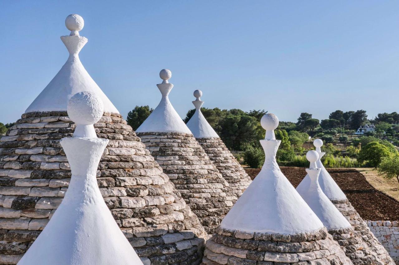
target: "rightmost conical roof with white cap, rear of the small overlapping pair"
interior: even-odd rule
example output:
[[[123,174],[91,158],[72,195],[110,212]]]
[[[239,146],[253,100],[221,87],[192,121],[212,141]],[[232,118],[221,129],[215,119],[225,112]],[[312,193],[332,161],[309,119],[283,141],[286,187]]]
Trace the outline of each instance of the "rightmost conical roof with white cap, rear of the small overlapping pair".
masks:
[[[316,139],[313,142],[318,152],[319,157],[316,162],[318,168],[320,168],[320,175],[318,177],[318,183],[323,193],[328,199],[334,204],[336,208],[342,213],[342,215],[349,221],[353,228],[350,232],[346,229],[330,231],[340,244],[344,246],[346,255],[350,257],[354,264],[394,264],[391,257],[385,248],[378,242],[377,238],[368,228],[366,222],[360,217],[356,209],[346,198],[344,192],[340,189],[331,175],[324,168],[321,158],[325,154],[321,152],[321,146],[323,141]],[[299,183],[296,190],[300,194],[306,193],[307,187],[311,183],[310,175],[307,174],[304,179]],[[349,238],[348,238],[349,237]],[[360,240],[361,239],[361,240]]]

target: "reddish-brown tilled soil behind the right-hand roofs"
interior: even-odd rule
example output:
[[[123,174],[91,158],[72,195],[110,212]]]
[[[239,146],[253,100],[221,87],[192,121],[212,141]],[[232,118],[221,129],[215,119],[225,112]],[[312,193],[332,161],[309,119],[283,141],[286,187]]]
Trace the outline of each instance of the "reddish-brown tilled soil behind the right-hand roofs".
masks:
[[[245,171],[254,179],[260,169],[246,169]],[[306,175],[304,168],[281,167],[281,171],[294,187]],[[359,171],[334,168],[328,169],[328,172],[364,220],[399,220],[399,202],[385,193],[377,191]]]

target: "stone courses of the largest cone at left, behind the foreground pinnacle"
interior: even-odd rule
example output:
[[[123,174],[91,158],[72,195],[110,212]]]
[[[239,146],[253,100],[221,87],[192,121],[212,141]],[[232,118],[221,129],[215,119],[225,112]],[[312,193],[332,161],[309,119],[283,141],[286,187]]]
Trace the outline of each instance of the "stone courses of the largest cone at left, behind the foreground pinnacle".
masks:
[[[119,113],[105,111],[94,127],[109,140],[97,184],[143,263],[199,261],[205,231],[140,138]],[[1,138],[0,264],[16,264],[60,205],[71,180],[60,139],[74,131],[66,109],[39,111]]]

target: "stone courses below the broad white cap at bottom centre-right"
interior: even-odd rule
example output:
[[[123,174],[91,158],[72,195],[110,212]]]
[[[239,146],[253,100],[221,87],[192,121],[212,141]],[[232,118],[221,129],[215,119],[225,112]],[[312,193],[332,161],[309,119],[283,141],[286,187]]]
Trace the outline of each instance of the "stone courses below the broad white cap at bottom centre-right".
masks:
[[[300,234],[246,233],[217,228],[207,241],[206,265],[352,264],[326,228]]]

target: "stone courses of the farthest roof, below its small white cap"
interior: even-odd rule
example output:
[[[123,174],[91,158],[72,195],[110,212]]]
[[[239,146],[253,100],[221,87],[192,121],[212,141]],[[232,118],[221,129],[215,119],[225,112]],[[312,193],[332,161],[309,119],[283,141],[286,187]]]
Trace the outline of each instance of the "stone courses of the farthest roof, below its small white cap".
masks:
[[[251,178],[237,162],[233,154],[217,137],[196,138],[213,164],[229,183],[227,195],[240,197],[251,184]]]

